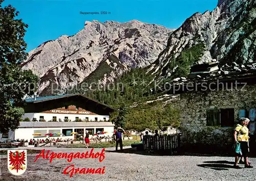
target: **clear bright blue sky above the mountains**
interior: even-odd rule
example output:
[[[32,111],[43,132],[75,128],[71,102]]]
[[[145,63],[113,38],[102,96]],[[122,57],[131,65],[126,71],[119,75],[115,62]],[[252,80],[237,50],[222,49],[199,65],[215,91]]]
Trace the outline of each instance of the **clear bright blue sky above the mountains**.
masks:
[[[126,22],[137,19],[175,29],[196,12],[212,11],[217,3],[217,0],[5,0],[2,7],[11,4],[19,11],[18,18],[29,25],[25,41],[30,51],[61,35],[74,35],[83,29],[86,20]],[[80,11],[110,14],[82,15]]]

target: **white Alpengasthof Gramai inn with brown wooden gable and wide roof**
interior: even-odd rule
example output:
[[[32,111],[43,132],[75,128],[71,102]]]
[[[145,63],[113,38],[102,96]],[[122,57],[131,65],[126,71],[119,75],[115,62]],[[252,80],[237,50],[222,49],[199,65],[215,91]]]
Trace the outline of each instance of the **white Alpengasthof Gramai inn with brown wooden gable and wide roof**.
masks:
[[[86,130],[90,135],[114,132],[114,124],[109,121],[109,116],[115,109],[82,94],[35,96],[25,100],[23,119],[29,118],[30,121],[21,121],[17,130],[0,134],[0,141],[45,140],[50,133],[58,133],[50,138],[72,139],[72,132],[84,135]]]

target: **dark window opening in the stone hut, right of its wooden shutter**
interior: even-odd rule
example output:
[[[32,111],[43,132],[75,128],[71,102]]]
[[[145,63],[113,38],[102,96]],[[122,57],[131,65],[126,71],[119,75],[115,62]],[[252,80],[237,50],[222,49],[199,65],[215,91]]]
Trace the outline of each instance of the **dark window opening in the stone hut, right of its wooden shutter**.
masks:
[[[230,127],[234,125],[234,109],[220,109],[220,118],[222,127]]]

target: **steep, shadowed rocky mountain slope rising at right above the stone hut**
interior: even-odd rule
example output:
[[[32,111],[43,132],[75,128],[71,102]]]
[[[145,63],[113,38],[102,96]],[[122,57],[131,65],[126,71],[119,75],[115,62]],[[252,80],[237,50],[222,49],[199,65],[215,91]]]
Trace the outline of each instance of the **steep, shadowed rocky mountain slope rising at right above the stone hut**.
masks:
[[[214,11],[195,13],[187,18],[169,36],[167,47],[147,72],[155,74],[158,80],[168,77],[172,80],[181,74],[187,75],[189,65],[193,64],[254,62],[255,24],[255,0],[219,0]]]

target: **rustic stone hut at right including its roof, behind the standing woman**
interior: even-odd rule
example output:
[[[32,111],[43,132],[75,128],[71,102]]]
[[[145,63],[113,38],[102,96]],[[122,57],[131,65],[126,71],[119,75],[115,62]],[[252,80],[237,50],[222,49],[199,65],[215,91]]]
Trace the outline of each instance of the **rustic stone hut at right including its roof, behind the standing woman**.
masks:
[[[241,110],[256,108],[256,74],[236,73],[208,79],[180,80],[159,90],[179,94],[172,104],[180,108],[182,143],[224,146],[233,143],[233,128]],[[159,91],[158,90],[158,91]],[[250,121],[250,138],[255,140],[255,121]]]

